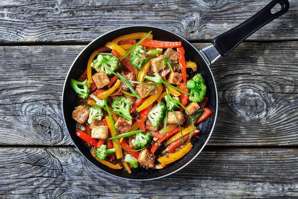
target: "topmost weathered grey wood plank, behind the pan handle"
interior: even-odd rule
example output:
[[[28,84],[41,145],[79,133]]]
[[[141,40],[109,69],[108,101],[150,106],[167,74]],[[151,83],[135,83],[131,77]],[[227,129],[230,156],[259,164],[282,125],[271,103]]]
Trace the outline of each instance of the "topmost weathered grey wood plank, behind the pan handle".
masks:
[[[270,0],[23,0],[0,2],[0,42],[88,42],[127,25],[153,25],[189,40],[211,40]],[[298,1],[250,40],[298,39]]]

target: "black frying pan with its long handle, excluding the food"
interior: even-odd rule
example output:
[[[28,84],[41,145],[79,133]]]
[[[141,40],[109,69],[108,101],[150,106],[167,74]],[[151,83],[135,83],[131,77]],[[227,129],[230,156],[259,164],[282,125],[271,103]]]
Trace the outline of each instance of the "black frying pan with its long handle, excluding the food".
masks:
[[[281,9],[275,13],[271,13],[271,9],[276,4],[281,5]],[[93,165],[98,167],[103,172],[112,176],[130,179],[130,180],[153,180],[173,174],[193,159],[195,159],[202,151],[207,141],[209,140],[211,133],[215,126],[215,121],[218,111],[218,95],[215,80],[211,72],[210,66],[220,57],[228,55],[237,45],[239,45],[244,39],[249,37],[252,33],[283,15],[288,11],[290,7],[288,0],[272,0],[263,9],[257,12],[255,15],[237,25],[231,30],[217,36],[213,39],[212,44],[197,50],[190,42],[181,36],[172,33],[168,30],[157,28],[153,26],[130,26],[107,32],[87,45],[76,57],[73,65],[71,66],[63,89],[62,97],[62,109],[63,118],[70,137],[72,138],[74,145],[78,151]],[[90,150],[83,144],[82,140],[75,135],[76,122],[72,119],[72,111],[76,106],[76,94],[70,87],[70,80],[76,79],[80,73],[86,68],[88,59],[92,52],[99,46],[104,46],[107,41],[112,41],[116,37],[121,35],[130,34],[134,32],[149,32],[152,30],[153,38],[155,40],[164,41],[181,41],[185,49],[185,59],[196,62],[198,65],[198,72],[203,75],[207,84],[207,97],[209,102],[207,107],[212,110],[212,114],[204,122],[200,123],[197,128],[201,130],[200,138],[193,138],[193,148],[180,160],[167,165],[164,169],[146,169],[138,167],[134,169],[132,174],[123,170],[114,170],[105,165],[102,165],[93,158]],[[191,75],[190,75],[191,76]],[[190,77],[189,77],[190,78]]]

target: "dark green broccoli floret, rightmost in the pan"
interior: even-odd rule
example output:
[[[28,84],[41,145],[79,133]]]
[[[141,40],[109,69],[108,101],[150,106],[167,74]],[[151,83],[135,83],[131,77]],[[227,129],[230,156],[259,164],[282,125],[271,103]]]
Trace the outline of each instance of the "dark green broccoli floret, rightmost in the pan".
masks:
[[[195,77],[187,82],[187,88],[190,90],[189,100],[195,102],[202,102],[206,95],[205,79],[201,73],[195,75]]]

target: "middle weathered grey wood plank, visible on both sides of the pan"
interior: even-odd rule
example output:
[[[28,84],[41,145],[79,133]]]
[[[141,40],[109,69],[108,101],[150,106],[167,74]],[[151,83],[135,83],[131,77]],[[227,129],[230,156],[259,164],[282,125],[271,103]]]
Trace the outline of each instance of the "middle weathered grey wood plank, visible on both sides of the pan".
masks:
[[[62,122],[61,95],[83,47],[0,49],[0,144],[72,144]],[[219,114],[210,145],[298,144],[297,52],[298,42],[249,42],[212,66]]]

